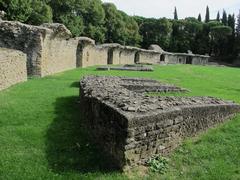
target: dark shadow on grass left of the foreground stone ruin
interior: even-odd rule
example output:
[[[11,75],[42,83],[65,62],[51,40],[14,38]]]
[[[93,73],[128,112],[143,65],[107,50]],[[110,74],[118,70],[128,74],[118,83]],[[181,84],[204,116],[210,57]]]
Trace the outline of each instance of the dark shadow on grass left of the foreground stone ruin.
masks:
[[[47,159],[50,169],[63,172],[113,172],[107,157],[90,143],[83,126],[78,97],[59,98],[55,103],[56,118],[47,137]]]

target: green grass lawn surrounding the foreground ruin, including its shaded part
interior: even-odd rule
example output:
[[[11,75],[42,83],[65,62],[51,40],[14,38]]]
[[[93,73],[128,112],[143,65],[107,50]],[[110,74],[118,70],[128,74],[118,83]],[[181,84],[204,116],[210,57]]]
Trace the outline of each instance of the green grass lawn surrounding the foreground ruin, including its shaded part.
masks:
[[[106,170],[104,156],[81,125],[79,79],[88,74],[157,79],[240,103],[240,69],[191,65],[155,66],[154,72],[75,69],[30,79],[0,92],[0,179],[128,179]],[[144,179],[240,179],[240,116],[185,140],[162,176]],[[142,177],[143,178],[143,177]]]

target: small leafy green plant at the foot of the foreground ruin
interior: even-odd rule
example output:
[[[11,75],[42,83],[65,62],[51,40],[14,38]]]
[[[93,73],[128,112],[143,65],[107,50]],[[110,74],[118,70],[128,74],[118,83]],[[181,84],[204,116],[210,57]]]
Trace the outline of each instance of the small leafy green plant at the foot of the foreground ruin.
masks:
[[[152,172],[164,174],[168,169],[168,159],[160,155],[153,156],[147,161],[147,166]]]

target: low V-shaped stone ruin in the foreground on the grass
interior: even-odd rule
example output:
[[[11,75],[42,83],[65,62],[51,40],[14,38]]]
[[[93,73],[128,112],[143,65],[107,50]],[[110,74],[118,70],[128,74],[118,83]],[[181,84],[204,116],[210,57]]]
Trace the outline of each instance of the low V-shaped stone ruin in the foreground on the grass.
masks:
[[[80,82],[81,109],[96,144],[127,170],[240,112],[238,104],[213,97],[146,94],[185,91],[149,79],[87,76]]]

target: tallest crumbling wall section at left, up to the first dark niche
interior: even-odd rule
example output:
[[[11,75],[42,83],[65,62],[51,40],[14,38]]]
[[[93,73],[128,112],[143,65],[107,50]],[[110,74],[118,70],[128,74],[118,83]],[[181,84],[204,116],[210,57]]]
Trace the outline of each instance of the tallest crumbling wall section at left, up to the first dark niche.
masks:
[[[0,21],[0,27],[0,47],[26,53],[29,75],[43,77],[76,68],[78,39],[69,39],[64,25]]]

